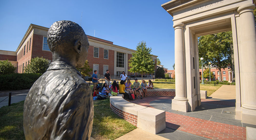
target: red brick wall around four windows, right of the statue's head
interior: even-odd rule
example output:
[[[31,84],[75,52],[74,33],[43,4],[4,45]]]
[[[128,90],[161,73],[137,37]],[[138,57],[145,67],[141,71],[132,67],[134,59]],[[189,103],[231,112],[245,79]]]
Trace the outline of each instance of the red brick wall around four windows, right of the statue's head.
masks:
[[[90,68],[93,68],[93,64],[99,64],[98,74],[105,74],[103,72],[103,65],[109,65],[110,75],[114,75],[114,51],[109,50],[109,59],[104,59],[104,48],[99,48],[99,58],[93,57],[94,46],[89,46],[87,60],[89,62]],[[93,74],[93,72],[89,73]]]

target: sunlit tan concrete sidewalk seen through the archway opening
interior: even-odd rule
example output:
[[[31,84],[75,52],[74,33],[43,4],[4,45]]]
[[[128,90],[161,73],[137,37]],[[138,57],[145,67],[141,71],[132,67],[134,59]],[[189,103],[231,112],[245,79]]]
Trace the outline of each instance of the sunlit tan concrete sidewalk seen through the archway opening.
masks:
[[[213,92],[209,97],[215,99],[236,99],[236,86],[235,85],[222,85],[219,89]]]

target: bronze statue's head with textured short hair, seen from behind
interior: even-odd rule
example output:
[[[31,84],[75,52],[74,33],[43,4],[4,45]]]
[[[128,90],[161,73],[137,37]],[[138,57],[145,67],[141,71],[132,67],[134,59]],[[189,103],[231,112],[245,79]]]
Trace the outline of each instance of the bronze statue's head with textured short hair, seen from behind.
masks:
[[[61,60],[76,61],[76,67],[83,67],[89,42],[81,26],[68,20],[56,21],[48,30],[47,42],[52,53]]]

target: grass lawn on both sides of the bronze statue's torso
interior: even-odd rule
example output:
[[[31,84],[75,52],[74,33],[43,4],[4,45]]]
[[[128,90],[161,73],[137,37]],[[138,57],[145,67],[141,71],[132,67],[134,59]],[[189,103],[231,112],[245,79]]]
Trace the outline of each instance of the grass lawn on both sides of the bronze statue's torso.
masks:
[[[121,119],[109,107],[109,98],[94,101],[92,137],[95,139],[116,139],[134,129],[135,126]],[[23,132],[24,101],[0,108],[0,140],[25,140]]]

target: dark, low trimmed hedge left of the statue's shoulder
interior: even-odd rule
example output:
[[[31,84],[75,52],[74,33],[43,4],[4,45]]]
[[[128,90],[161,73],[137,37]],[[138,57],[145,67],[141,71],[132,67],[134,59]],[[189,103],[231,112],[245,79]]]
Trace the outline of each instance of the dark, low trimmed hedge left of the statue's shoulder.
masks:
[[[0,90],[29,89],[42,74],[13,73],[0,76]]]

